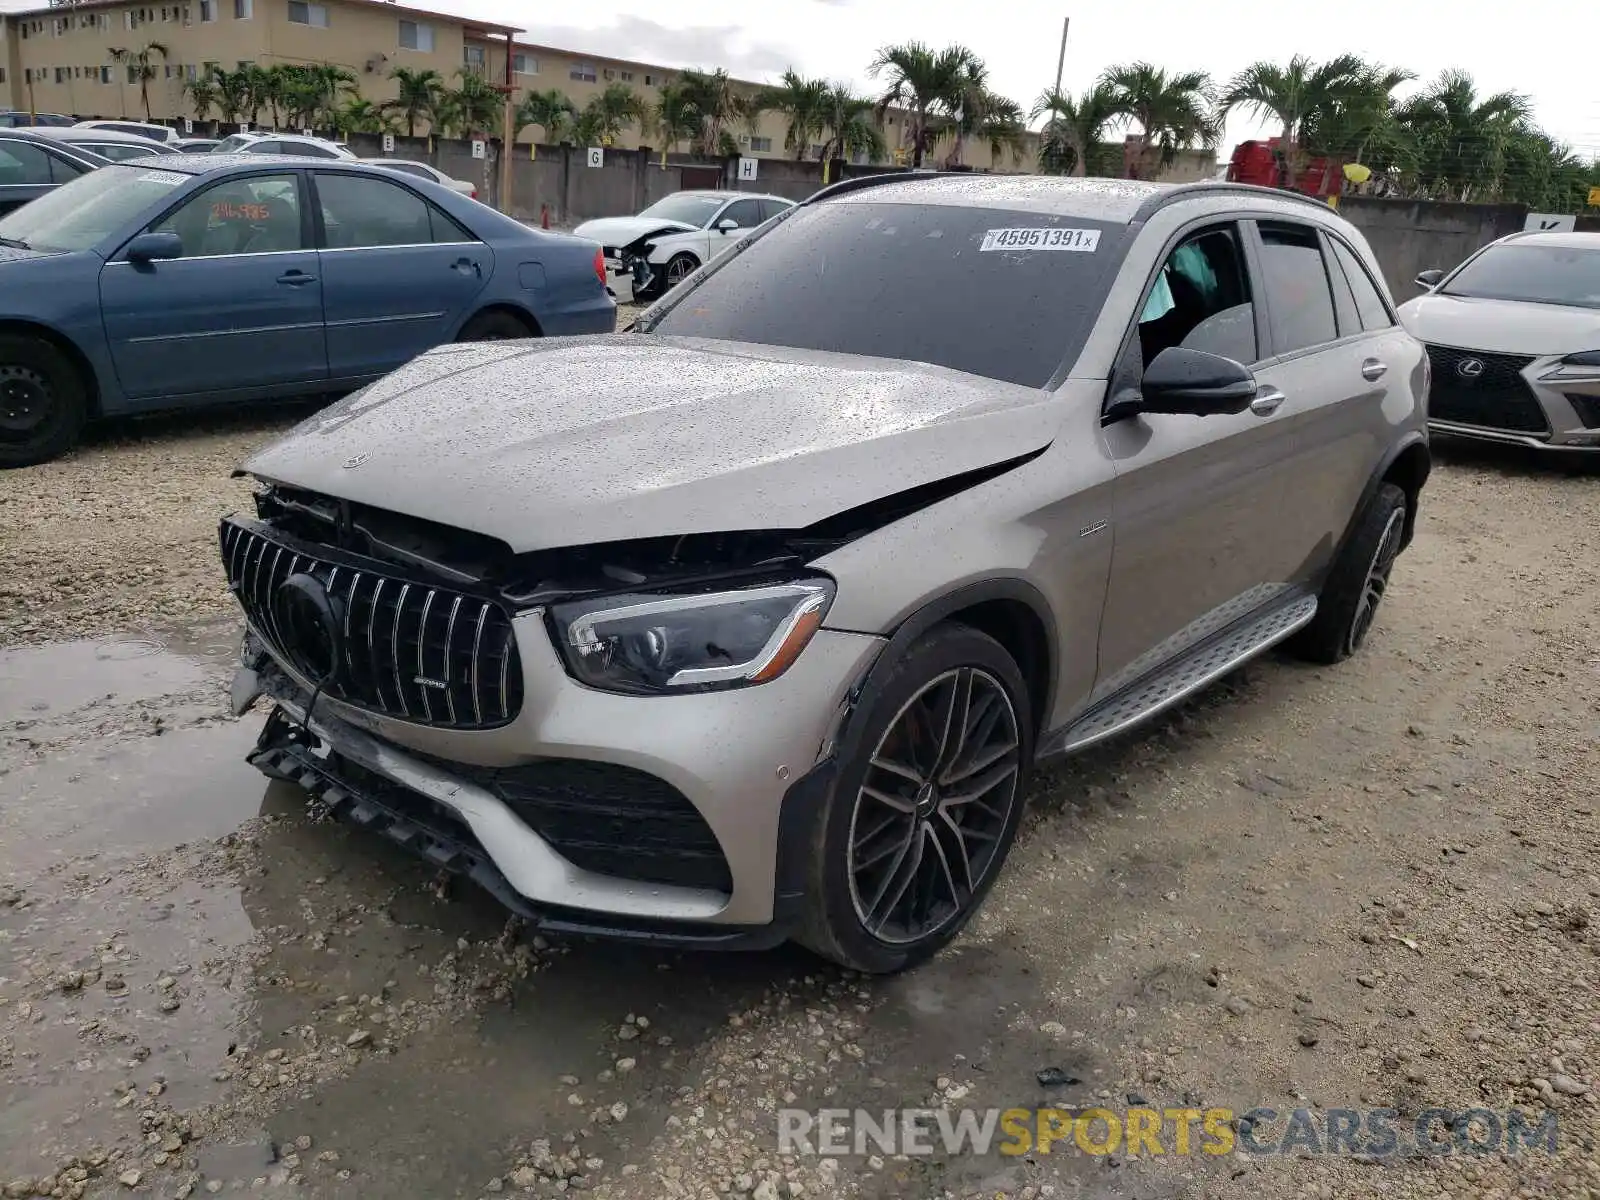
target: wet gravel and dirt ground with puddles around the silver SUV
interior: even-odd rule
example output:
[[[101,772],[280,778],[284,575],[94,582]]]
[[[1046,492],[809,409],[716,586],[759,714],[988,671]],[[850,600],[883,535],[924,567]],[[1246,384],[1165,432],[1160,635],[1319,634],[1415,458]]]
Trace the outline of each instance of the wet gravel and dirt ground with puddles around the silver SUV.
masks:
[[[88,539],[35,531],[70,520],[6,550],[64,563]],[[1253,664],[1042,774],[981,918],[888,981],[531,938],[243,762],[226,610],[133,584],[112,634],[40,597],[0,643],[0,1194],[1592,1200],[1597,597],[1600,475],[1451,454],[1360,658]],[[1522,1106],[1563,1142],[776,1154],[779,1107],[1141,1098]]]

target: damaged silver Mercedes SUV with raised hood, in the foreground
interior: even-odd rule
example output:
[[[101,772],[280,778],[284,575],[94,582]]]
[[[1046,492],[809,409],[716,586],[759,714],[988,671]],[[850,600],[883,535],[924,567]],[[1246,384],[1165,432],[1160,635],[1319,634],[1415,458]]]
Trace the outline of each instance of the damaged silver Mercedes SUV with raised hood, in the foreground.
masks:
[[[1035,762],[1363,643],[1429,474],[1381,278],[1286,194],[902,174],[424,354],[243,467],[253,762],[541,928],[904,968]]]

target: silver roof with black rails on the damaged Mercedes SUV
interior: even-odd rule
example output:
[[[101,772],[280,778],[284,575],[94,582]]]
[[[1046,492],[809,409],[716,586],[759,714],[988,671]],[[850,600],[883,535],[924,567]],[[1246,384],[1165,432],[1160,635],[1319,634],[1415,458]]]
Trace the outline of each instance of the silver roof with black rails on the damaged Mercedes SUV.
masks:
[[[853,202],[885,205],[950,205],[958,208],[1008,208],[1040,216],[1072,216],[1106,224],[1147,221],[1178,200],[1218,194],[1256,197],[1261,202],[1310,205],[1323,218],[1338,219],[1320,200],[1277,187],[1202,181],[1157,184],[1146,179],[1094,179],[1054,174],[971,174],[966,171],[894,171],[845,179],[814,194],[808,203],[848,195]],[[1262,203],[1266,208],[1266,203]]]

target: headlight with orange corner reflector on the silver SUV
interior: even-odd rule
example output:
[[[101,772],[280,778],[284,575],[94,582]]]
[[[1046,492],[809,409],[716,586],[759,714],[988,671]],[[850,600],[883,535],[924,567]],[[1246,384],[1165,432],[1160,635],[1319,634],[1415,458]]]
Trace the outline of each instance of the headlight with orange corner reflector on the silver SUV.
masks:
[[[661,696],[766,683],[822,626],[830,579],[702,595],[608,595],[550,608],[557,650],[579,683]]]

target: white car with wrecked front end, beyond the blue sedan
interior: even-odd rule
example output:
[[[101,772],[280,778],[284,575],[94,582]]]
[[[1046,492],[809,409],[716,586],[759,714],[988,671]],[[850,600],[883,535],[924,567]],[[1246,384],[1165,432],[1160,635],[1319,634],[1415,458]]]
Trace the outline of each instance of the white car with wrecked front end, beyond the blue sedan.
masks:
[[[755,192],[674,192],[638,216],[603,216],[573,230],[605,250],[606,275],[650,301],[690,272],[733,250],[794,200]]]

